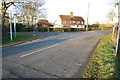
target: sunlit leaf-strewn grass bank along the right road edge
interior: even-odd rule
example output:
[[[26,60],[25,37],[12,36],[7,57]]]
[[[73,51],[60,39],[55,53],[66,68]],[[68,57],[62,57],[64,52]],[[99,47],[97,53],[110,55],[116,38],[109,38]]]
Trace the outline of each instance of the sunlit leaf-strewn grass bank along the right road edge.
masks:
[[[87,65],[83,78],[120,79],[120,57],[115,55],[116,38],[105,36]]]

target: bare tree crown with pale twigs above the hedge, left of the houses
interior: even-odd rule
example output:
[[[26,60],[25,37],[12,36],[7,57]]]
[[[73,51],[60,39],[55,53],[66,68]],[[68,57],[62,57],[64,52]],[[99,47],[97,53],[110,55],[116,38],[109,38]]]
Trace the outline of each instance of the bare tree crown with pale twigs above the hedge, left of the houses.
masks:
[[[36,2],[22,2],[21,6],[18,6],[19,13],[22,14],[25,24],[32,25],[39,17],[45,17],[44,0],[38,0]],[[43,14],[44,12],[44,14]]]

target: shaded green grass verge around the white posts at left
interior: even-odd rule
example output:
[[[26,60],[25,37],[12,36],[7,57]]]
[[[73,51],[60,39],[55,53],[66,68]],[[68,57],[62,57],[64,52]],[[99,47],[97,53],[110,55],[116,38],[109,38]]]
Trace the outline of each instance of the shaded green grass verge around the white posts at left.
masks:
[[[33,34],[23,34],[23,33],[17,33],[16,36],[17,36],[16,38],[12,36],[13,37],[12,42],[10,40],[10,37],[6,37],[6,39],[2,41],[2,46],[0,47],[9,47],[9,46],[17,45],[27,41],[35,40],[38,37],[40,37],[40,35],[33,36]]]

